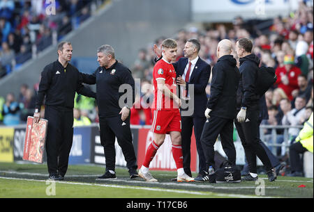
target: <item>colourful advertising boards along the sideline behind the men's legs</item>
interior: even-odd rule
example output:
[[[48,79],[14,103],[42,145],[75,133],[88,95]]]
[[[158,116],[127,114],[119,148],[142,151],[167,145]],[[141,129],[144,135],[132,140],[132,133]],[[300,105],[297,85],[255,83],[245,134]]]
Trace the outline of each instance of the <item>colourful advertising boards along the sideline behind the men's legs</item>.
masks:
[[[22,161],[24,150],[26,124],[13,127],[0,127],[0,162]],[[151,126],[131,125],[133,145],[137,156],[137,165],[140,168],[144,161],[147,147],[153,140],[153,133],[149,130]],[[48,132],[49,133],[49,132]],[[122,154],[121,147],[115,142],[116,165],[126,167],[126,161]],[[46,162],[46,154],[43,161]],[[31,163],[31,162],[25,162]],[[103,146],[100,144],[98,124],[93,123],[89,126],[75,127],[73,130],[73,145],[70,151],[69,164],[89,164],[95,163],[105,165],[105,155]],[[197,171],[197,151],[194,133],[191,139],[191,170]],[[172,144],[170,136],[167,135],[165,142],[158,150],[155,158],[151,161],[151,170],[176,170],[172,157]]]

